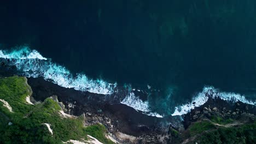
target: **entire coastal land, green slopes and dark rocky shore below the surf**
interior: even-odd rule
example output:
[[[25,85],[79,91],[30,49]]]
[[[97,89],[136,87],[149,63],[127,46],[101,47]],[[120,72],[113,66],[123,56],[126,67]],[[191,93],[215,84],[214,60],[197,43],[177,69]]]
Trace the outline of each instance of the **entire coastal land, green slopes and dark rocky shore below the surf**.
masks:
[[[256,108],[239,101],[209,99],[186,115],[156,118],[125,105],[85,103],[89,93],[43,79],[28,84],[25,77],[0,79],[0,143],[256,142]]]

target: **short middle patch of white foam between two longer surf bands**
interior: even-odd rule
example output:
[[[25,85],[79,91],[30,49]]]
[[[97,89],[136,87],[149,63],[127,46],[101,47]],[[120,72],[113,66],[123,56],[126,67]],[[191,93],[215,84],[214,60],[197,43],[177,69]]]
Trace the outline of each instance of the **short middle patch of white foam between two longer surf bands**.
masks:
[[[142,113],[148,116],[163,117],[156,112],[152,112],[149,108],[148,101],[139,99],[133,92],[130,92],[120,103],[130,106],[135,110],[142,111]]]

